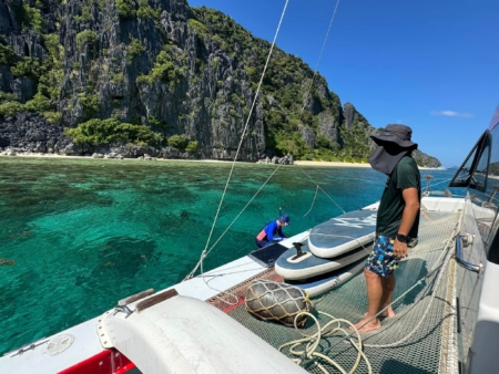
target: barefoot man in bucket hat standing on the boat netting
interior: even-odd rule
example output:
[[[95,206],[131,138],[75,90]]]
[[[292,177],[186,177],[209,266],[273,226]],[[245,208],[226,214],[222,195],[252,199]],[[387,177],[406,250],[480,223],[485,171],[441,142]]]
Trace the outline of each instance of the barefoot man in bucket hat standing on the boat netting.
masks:
[[[360,332],[381,326],[375,315],[393,301],[394,270],[400,259],[409,256],[408,247],[417,243],[421,181],[418,166],[410,156],[418,147],[410,141],[411,134],[408,126],[387,125],[380,134],[370,136],[377,148],[370,155],[369,164],[388,179],[379,202],[373,252],[364,268],[368,311],[356,324]],[[394,315],[389,307],[380,316]]]

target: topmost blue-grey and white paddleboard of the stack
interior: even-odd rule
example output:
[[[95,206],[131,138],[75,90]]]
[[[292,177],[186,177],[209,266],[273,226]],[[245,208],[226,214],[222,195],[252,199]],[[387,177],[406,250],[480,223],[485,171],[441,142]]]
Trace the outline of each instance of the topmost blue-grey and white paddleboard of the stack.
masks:
[[[355,210],[317,225],[308,247],[317,257],[333,258],[375,239],[376,210]]]

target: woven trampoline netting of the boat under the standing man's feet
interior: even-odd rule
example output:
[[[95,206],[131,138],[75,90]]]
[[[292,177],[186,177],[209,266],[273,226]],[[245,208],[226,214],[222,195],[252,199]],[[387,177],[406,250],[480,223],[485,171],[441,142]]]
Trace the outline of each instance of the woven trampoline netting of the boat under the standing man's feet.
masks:
[[[458,219],[459,214],[456,211],[429,211],[421,215],[419,243],[410,250],[408,259],[401,261],[396,270],[397,285],[394,300],[424,279],[425,274],[442,259],[445,262],[431,277],[424,279],[395,302],[395,318],[385,319],[380,330],[363,334],[364,352],[374,373],[451,373],[456,368],[450,367],[452,364],[448,364],[452,360],[447,360],[454,354],[448,346],[452,346],[449,342],[452,341],[454,329],[449,326],[454,323],[451,300],[455,264],[449,260],[450,250],[444,251],[442,248],[446,239],[452,236]],[[278,277],[273,278],[272,273],[267,272],[266,279],[276,280]],[[244,299],[248,283],[245,282],[230,292]],[[435,295],[431,297],[434,291]],[[227,297],[221,295],[221,298]],[[211,302],[228,312],[228,315],[274,347],[303,337],[293,328],[256,320],[246,312],[244,303],[227,308],[227,303],[221,302],[221,299],[214,298]],[[314,302],[316,310],[314,315],[322,325],[329,319],[319,315],[317,311],[356,323],[367,311],[366,283],[363,273],[355,276],[337,289],[315,298]],[[314,334],[316,330],[313,320],[309,319],[302,331]],[[442,346],[441,350],[440,346]],[[283,352],[292,357],[288,350]],[[326,354],[347,371],[354,366],[357,357],[357,351],[345,341],[343,334],[323,337],[317,352]],[[326,362],[322,360],[319,362],[332,373],[337,372]],[[310,373],[320,373],[313,360],[306,361],[303,366]],[[356,373],[367,373],[364,361],[360,362]]]

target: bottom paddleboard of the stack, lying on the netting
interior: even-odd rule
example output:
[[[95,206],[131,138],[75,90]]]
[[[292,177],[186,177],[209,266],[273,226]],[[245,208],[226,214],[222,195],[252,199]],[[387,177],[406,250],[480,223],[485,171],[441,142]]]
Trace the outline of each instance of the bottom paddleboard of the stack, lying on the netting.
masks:
[[[334,289],[338,284],[346,282],[348,279],[357,274],[363,270],[365,262],[365,259],[361,259],[333,272],[305,280],[284,280],[284,282],[299,287],[302,290],[307,291],[309,297],[316,297],[323,292]]]

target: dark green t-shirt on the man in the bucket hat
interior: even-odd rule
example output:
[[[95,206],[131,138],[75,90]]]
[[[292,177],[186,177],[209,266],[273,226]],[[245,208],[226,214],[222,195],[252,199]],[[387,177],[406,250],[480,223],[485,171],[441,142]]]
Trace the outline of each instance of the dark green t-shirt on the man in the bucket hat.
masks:
[[[405,201],[403,197],[404,188],[417,188],[418,198],[421,201],[421,177],[416,162],[405,156],[395,167],[395,170],[388,177],[383,193],[381,201],[378,208],[378,218],[376,220],[376,233],[389,238],[395,238],[400,227],[404,214]],[[419,211],[409,231],[410,238],[418,236]]]

